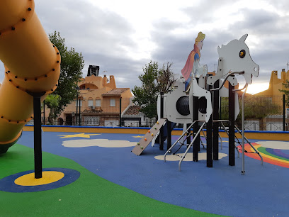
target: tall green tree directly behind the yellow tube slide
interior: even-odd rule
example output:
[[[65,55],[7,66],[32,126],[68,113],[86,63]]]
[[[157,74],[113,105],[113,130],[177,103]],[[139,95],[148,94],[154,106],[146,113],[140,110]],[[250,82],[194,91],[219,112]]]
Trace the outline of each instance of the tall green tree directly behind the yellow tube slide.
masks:
[[[75,88],[82,77],[81,70],[84,68],[84,57],[81,53],[76,52],[74,48],[68,50],[65,45],[65,38],[61,38],[59,32],[55,31],[49,35],[49,38],[61,55],[60,79],[57,89],[52,93],[60,96],[59,104],[54,110],[55,116],[59,116],[64,108],[76,98],[77,90]]]

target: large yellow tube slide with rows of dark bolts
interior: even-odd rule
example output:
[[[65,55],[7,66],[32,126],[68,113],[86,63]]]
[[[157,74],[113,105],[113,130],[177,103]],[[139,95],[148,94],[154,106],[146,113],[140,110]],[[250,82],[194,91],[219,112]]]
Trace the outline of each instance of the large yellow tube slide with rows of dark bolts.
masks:
[[[60,53],[42,28],[33,0],[0,1],[0,60],[5,65],[0,86],[1,154],[33,118],[33,96],[26,91],[45,91],[44,100],[60,77]]]

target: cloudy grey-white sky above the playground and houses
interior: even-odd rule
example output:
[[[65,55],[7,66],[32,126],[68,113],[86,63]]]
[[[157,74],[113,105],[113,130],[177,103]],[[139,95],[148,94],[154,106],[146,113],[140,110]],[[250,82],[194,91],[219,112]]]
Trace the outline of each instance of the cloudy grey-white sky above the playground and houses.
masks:
[[[248,91],[268,89],[271,71],[288,69],[289,4],[287,0],[35,0],[35,11],[47,34],[60,32],[68,48],[84,57],[100,76],[114,75],[117,87],[140,87],[142,68],[151,60],[172,62],[177,76],[199,31],[205,33],[200,64],[217,69],[217,46],[248,34],[246,45],[260,67]],[[0,64],[0,82],[4,66]],[[240,86],[244,78],[237,77]]]

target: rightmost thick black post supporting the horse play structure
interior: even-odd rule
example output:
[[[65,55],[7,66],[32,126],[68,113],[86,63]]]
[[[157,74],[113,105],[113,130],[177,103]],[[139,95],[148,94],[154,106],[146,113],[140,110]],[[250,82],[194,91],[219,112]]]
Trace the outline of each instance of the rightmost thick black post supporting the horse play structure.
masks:
[[[234,86],[229,83],[229,165],[235,165],[234,147]]]

